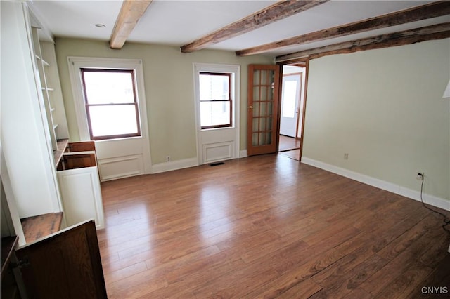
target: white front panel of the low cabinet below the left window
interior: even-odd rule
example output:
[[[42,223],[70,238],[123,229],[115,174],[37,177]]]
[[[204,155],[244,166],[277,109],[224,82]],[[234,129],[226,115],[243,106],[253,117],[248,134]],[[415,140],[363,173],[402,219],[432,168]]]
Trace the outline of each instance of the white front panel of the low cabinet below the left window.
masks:
[[[96,167],[57,171],[67,225],[94,218],[97,229],[104,227],[103,201]]]

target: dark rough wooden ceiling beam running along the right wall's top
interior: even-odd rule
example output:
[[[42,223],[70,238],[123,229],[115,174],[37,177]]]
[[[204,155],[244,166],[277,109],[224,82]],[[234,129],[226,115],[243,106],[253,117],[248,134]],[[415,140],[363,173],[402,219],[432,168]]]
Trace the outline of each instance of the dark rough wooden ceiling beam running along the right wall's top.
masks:
[[[404,30],[390,34],[368,37],[366,39],[357,39],[354,41],[344,41],[342,43],[312,48],[305,51],[277,56],[276,62],[292,62],[298,58],[308,57],[309,59],[319,58],[326,55],[354,53],[357,51],[366,51],[376,48],[387,48],[392,46],[403,46],[406,44],[415,44],[421,41],[432,39],[446,39],[450,37],[450,22],[421,27],[416,29]]]

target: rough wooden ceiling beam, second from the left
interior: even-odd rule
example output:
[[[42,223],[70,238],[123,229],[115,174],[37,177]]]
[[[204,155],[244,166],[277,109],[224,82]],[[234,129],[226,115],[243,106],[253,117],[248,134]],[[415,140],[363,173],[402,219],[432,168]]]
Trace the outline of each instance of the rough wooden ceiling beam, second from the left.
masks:
[[[263,8],[261,11],[248,15],[247,17],[226,25],[216,32],[207,34],[206,36],[196,39],[191,44],[181,46],[181,52],[190,53],[201,50],[211,44],[217,44],[220,41],[231,39],[234,36],[250,32],[272,22],[288,18],[291,15],[306,11],[319,4],[323,4],[329,0],[306,0],[306,1],[278,1],[276,4]]]

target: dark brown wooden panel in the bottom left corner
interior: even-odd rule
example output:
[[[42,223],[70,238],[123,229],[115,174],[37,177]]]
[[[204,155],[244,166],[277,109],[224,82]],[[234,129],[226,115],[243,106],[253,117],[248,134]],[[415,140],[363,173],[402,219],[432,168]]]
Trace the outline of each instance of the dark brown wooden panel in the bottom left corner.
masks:
[[[28,298],[107,298],[93,220],[15,251]]]

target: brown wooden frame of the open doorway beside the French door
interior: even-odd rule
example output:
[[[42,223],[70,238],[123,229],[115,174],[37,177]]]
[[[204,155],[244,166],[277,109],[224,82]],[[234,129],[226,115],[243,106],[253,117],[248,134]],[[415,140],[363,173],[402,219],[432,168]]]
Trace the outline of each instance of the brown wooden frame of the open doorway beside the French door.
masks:
[[[276,65],[280,65],[280,80],[279,80],[279,88],[278,88],[278,97],[281,97],[282,87],[283,87],[283,65],[294,65],[298,67],[304,67],[304,86],[303,86],[303,105],[301,107],[302,113],[302,130],[300,137],[300,154],[299,154],[299,163],[302,161],[302,152],[303,152],[303,140],[304,140],[304,120],[306,116],[306,108],[307,108],[307,91],[308,91],[308,74],[309,74],[309,58],[298,58],[295,60],[289,60],[286,62],[277,62]],[[279,150],[279,140],[280,140],[280,120],[281,120],[281,100],[278,102],[278,118],[277,118],[277,138],[276,138],[276,152]],[[298,126],[297,126],[298,129]],[[297,132],[298,135],[298,132]]]

